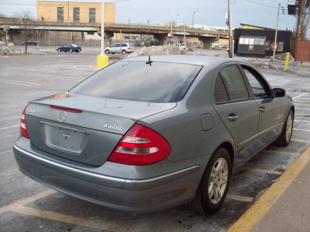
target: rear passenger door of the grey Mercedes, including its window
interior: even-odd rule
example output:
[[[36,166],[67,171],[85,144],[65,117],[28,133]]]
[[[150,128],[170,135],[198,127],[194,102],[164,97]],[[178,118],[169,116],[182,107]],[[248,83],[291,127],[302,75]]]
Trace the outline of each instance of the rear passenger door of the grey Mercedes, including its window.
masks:
[[[236,148],[235,164],[238,164],[257,149],[257,102],[235,62],[218,68],[213,91],[214,108],[233,137]]]

